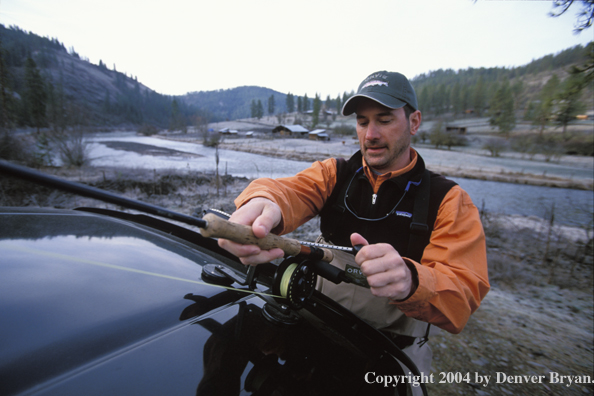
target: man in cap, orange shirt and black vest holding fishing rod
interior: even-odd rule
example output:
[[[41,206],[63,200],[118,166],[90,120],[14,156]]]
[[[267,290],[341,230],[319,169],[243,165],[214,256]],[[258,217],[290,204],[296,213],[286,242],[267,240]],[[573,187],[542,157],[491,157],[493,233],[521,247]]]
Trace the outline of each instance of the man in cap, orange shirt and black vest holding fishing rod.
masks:
[[[360,267],[370,289],[323,279],[318,288],[388,333],[428,374],[428,324],[460,332],[489,290],[479,213],[464,190],[426,171],[411,148],[422,117],[405,76],[371,74],[342,113],[356,113],[358,153],[316,162],[294,177],[255,180],[236,199],[230,220],[251,225],[261,238],[319,214],[320,241],[364,245],[355,257],[337,252],[332,264]],[[219,244],[246,265],[283,255]]]

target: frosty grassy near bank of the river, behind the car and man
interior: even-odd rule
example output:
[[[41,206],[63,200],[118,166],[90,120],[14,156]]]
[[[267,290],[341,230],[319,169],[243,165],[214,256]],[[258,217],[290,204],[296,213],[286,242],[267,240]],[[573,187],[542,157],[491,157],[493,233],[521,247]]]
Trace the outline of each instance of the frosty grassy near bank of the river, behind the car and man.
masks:
[[[207,208],[234,210],[246,178],[212,173],[121,167],[46,168],[44,172],[122,196],[201,216]],[[25,182],[0,179],[3,206],[95,206],[121,209]],[[318,219],[290,236],[313,241]],[[483,213],[492,289],[462,333],[434,330],[432,371],[472,374],[470,383],[429,384],[431,395],[584,395],[585,384],[494,383],[484,387],[475,373],[591,375],[594,349],[591,235],[542,219]],[[436,329],[434,327],[434,329]]]

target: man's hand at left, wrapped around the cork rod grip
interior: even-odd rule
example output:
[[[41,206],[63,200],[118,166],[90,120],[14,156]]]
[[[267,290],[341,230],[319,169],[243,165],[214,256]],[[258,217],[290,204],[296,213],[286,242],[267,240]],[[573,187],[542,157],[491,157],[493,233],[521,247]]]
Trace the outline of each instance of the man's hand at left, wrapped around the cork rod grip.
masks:
[[[229,221],[252,226],[254,235],[264,238],[281,219],[281,210],[277,204],[266,198],[254,198],[233,213]],[[239,257],[245,265],[267,263],[284,256],[279,248],[262,250],[256,245],[241,245],[228,239],[219,239],[219,246]]]

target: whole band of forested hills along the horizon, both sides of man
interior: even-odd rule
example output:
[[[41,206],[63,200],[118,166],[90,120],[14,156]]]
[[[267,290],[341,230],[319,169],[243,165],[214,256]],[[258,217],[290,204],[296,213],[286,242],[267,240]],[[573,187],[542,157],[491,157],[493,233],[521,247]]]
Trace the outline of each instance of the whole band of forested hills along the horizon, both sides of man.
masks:
[[[416,76],[413,85],[426,117],[497,116],[544,125],[560,113],[566,120],[592,110],[594,45],[569,48],[515,68],[436,70]],[[268,88],[244,86],[167,96],[102,61],[90,63],[55,38],[0,25],[0,120],[9,129],[70,126],[185,126],[261,117],[284,112],[337,111],[352,92],[324,101]],[[587,73],[570,73],[589,65]],[[579,89],[578,89],[579,88]],[[573,96],[572,96],[573,95]],[[567,107],[566,109],[563,106]],[[555,113],[555,114],[553,114]],[[314,114],[314,117],[316,115]],[[573,118],[572,118],[573,117]]]

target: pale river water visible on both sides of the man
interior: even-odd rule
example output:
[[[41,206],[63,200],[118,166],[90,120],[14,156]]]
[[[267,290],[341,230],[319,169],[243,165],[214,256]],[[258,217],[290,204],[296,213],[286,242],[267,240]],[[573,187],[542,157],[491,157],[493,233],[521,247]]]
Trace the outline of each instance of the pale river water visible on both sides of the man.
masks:
[[[101,141],[136,142],[193,153],[200,157],[161,157],[110,149]],[[215,149],[193,143],[135,136],[132,133],[98,135],[90,139],[93,165],[145,169],[216,170]],[[432,153],[434,154],[434,153]],[[434,158],[434,157],[433,157]],[[484,158],[482,160],[485,160]],[[488,160],[488,159],[487,159]],[[428,161],[429,162],[429,161]],[[429,162],[430,163],[430,162]],[[219,172],[247,178],[287,177],[310,166],[309,162],[270,158],[237,151],[219,150]],[[453,178],[477,207],[492,213],[537,216],[549,219],[554,206],[555,222],[569,226],[592,226],[592,191],[539,187],[523,184]]]

